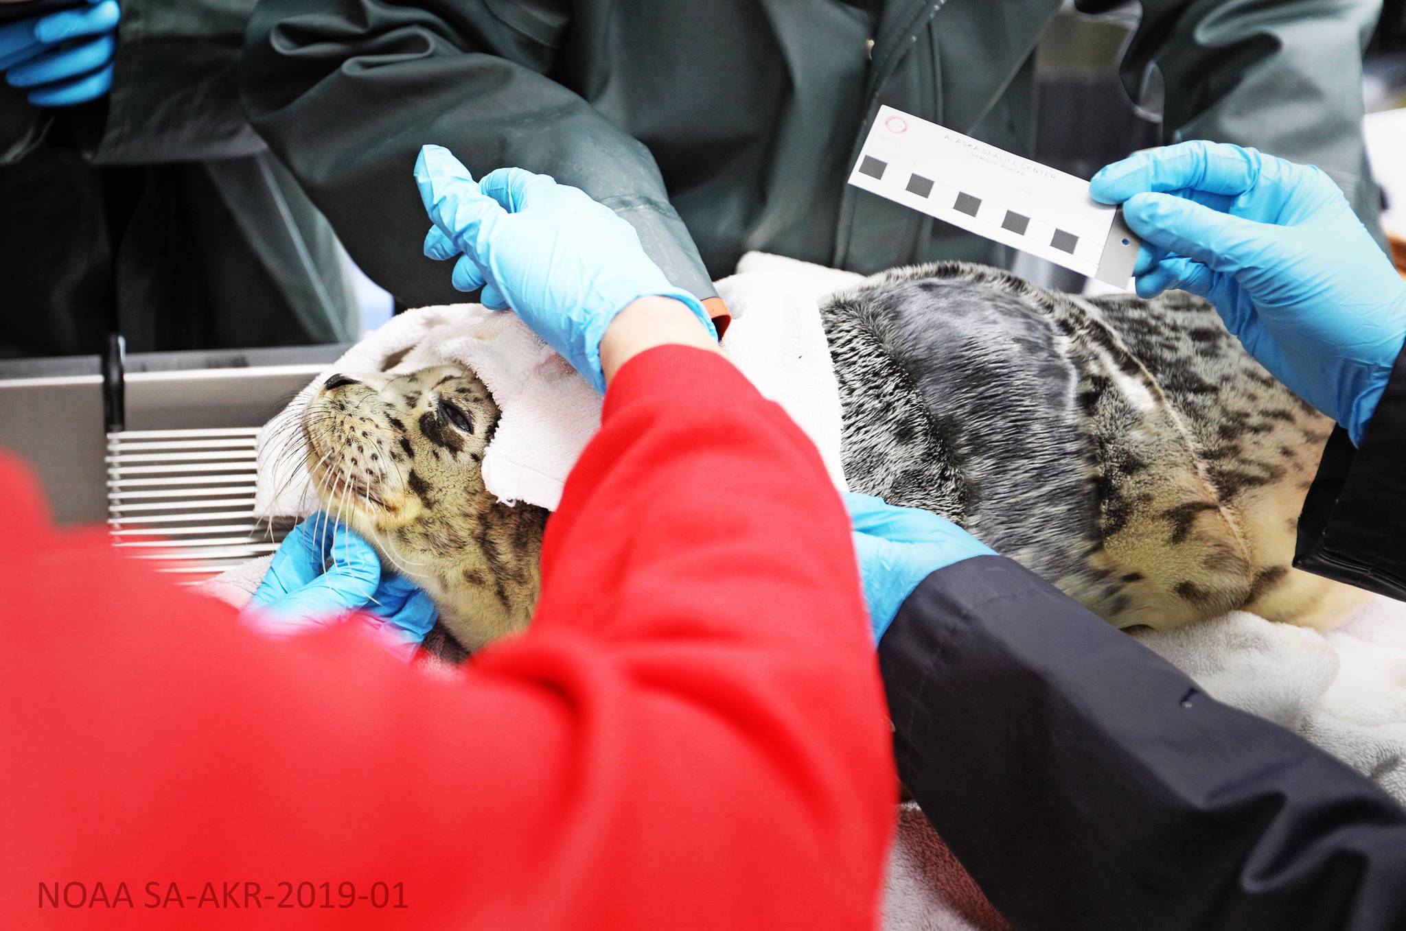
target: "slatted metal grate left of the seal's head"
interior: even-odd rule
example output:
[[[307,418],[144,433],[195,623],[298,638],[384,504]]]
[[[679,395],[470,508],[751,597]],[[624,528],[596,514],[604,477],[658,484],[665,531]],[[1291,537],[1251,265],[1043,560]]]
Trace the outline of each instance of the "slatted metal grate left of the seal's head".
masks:
[[[254,511],[257,427],[107,434],[112,545],[197,584],[271,553],[292,521]]]

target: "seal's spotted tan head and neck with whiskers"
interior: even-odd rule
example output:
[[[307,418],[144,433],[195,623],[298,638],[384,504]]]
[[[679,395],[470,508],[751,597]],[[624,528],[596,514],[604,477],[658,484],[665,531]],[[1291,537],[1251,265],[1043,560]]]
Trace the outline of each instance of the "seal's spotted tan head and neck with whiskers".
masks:
[[[457,365],[332,375],[302,417],[323,507],[425,588],[468,650],[524,628],[537,600],[547,513],[484,486],[498,418],[488,388]]]

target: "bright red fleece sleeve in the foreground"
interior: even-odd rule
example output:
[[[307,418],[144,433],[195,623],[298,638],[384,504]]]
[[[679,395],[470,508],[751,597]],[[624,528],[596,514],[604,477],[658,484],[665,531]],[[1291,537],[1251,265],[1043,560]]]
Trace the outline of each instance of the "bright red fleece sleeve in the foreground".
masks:
[[[25,484],[0,463],[0,498]],[[17,514],[3,927],[875,921],[896,784],[848,521],[713,354],[620,371],[537,621],[461,677],[350,628],[262,640]]]

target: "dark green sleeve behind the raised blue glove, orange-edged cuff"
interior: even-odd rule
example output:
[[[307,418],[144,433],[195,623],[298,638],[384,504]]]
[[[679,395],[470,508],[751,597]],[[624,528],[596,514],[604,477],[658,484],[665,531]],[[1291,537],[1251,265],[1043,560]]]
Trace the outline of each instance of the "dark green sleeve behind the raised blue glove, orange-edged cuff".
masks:
[[[567,0],[262,0],[249,27],[250,119],[337,236],[405,305],[463,301],[422,257],[429,220],[412,181],[425,143],[475,176],[551,174],[634,225],[669,279],[714,295],[650,150],[546,77]]]

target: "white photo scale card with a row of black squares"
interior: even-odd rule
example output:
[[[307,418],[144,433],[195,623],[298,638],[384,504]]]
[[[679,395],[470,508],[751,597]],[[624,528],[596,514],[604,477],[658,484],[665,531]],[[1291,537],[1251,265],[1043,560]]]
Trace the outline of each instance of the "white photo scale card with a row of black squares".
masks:
[[[1142,246],[1087,181],[893,107],[879,108],[849,183],[1119,288]]]

